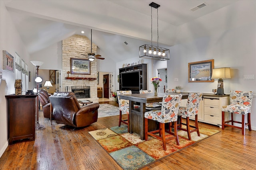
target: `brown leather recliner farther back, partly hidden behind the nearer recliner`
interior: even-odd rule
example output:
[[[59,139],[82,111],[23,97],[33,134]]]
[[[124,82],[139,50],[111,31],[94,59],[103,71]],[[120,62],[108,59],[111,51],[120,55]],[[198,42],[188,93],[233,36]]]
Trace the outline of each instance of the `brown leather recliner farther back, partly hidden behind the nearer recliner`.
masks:
[[[38,99],[43,107],[44,117],[50,118],[50,100],[48,92],[44,89],[39,90]]]

